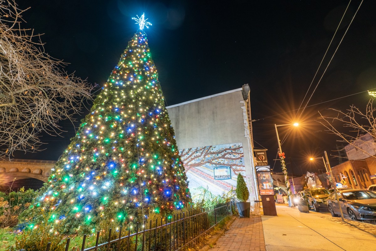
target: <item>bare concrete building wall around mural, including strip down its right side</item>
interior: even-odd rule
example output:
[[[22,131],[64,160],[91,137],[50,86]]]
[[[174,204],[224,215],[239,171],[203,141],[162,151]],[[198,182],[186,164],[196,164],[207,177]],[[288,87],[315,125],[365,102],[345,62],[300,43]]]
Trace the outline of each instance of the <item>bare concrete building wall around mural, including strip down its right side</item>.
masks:
[[[241,143],[250,200],[258,198],[246,101],[242,89],[168,106],[179,150]]]

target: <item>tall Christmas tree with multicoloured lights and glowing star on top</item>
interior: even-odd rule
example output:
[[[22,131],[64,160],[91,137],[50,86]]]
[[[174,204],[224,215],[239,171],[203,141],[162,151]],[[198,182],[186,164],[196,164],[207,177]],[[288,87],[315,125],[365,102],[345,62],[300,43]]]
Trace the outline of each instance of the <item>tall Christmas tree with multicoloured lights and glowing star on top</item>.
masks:
[[[46,219],[61,233],[101,220],[143,222],[191,203],[143,31],[151,24],[135,20],[140,29],[27,212],[30,228]]]

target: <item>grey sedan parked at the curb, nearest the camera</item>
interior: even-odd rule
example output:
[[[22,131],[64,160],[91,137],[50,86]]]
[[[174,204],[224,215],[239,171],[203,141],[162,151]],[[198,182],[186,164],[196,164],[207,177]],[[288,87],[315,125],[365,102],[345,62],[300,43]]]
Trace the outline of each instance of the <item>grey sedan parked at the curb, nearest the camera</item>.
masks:
[[[337,191],[342,213],[353,221],[376,220],[376,193],[365,189]],[[335,193],[327,198],[327,207],[333,217],[340,215]]]

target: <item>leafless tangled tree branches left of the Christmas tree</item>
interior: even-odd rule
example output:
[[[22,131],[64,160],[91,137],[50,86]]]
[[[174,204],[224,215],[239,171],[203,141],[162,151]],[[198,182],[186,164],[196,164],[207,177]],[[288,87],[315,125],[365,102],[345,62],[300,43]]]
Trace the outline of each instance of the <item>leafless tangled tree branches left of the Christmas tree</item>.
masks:
[[[41,133],[59,135],[58,122],[74,121],[95,87],[61,70],[40,35],[21,28],[26,10],[0,0],[0,156],[39,151]]]

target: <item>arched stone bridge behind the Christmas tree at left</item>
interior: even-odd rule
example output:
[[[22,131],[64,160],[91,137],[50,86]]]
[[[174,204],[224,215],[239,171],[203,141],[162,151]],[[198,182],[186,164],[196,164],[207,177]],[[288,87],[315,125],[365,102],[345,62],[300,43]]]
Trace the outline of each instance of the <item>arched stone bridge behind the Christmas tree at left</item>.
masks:
[[[38,189],[47,182],[55,163],[51,160],[0,160],[0,191],[10,187],[17,190],[23,186]]]

